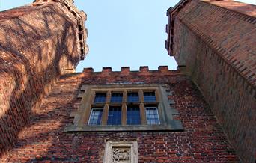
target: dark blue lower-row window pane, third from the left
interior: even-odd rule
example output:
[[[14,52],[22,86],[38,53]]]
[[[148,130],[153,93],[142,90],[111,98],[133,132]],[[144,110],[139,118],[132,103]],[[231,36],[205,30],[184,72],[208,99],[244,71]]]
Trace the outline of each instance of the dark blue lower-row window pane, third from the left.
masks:
[[[127,125],[141,124],[140,109],[138,106],[127,106]]]

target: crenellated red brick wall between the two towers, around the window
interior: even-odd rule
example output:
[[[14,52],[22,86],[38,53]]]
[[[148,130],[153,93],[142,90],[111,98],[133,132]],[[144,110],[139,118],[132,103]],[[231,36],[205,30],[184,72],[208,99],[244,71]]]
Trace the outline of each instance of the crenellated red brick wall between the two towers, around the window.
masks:
[[[123,68],[121,72],[104,69],[93,73],[62,76],[49,96],[43,99],[36,115],[13,150],[2,162],[103,162],[106,140],[138,141],[139,162],[239,162],[228,143],[222,127],[216,121],[203,96],[188,76],[178,70],[160,67],[138,72]],[[63,132],[73,122],[70,112],[76,111],[82,84],[144,82],[168,84],[179,114],[175,120],[183,123],[183,132]],[[0,161],[0,162],[1,162]]]

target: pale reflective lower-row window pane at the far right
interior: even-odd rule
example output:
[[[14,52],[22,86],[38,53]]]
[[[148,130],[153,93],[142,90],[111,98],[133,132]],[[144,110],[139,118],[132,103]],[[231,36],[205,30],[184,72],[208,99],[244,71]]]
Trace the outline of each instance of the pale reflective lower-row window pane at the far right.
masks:
[[[158,109],[156,107],[146,107],[147,124],[160,124]]]

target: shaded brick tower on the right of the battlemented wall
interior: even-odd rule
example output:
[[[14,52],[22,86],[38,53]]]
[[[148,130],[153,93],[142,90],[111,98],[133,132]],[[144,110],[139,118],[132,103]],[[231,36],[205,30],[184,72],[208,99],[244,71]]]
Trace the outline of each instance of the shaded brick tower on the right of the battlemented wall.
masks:
[[[192,1],[174,12],[170,53],[178,64],[186,65],[186,73],[200,88],[240,158],[255,162],[255,7],[232,1],[211,3],[219,6]],[[248,15],[243,12],[246,9],[250,9]]]

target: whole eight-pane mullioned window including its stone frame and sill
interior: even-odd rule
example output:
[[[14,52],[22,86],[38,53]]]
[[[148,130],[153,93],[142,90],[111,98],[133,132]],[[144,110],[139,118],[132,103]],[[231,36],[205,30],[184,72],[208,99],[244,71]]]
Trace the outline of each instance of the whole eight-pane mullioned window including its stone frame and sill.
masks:
[[[182,131],[177,111],[170,106],[165,85],[82,85],[81,104],[72,111],[73,124],[65,132]]]

